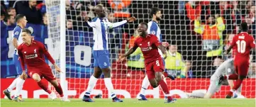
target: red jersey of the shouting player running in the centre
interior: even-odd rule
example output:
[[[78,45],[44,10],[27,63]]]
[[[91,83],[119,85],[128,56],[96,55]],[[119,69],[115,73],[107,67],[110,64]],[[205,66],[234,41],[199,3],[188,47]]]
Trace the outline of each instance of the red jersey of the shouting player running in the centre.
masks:
[[[140,47],[145,58],[145,63],[155,61],[161,57],[157,46],[161,45],[157,36],[148,34],[145,38],[139,37],[135,40],[133,47]]]

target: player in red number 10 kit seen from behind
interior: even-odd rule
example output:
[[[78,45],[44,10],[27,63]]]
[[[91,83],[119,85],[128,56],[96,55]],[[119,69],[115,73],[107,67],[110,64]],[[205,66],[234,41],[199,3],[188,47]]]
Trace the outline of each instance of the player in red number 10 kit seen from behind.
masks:
[[[236,96],[236,90],[243,82],[243,79],[246,78],[247,72],[250,65],[250,50],[253,49],[255,51],[255,40],[252,37],[252,35],[249,35],[247,33],[247,23],[241,23],[241,30],[242,32],[238,35],[235,35],[233,38],[233,41],[228,47],[228,50],[224,52],[224,54],[228,54],[230,50],[234,47],[235,50],[235,71],[238,72],[238,74],[230,74],[229,76],[221,76],[219,83],[225,79],[236,79],[235,86],[233,86],[233,89],[231,89],[226,98],[232,98]]]

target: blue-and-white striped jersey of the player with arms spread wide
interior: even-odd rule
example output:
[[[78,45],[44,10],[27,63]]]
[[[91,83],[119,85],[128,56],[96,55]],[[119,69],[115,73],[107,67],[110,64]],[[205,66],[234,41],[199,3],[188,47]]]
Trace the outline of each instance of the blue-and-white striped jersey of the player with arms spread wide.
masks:
[[[111,23],[107,18],[94,18],[91,22],[87,22],[94,32],[94,47],[93,50],[108,50],[108,30],[107,28],[116,28],[127,23],[126,20]]]

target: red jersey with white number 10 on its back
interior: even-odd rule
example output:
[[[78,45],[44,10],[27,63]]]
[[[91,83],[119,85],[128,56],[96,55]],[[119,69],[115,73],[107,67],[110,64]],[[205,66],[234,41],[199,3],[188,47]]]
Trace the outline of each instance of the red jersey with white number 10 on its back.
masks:
[[[255,48],[255,40],[246,32],[235,35],[231,43],[235,49],[235,61],[250,60],[250,50]]]

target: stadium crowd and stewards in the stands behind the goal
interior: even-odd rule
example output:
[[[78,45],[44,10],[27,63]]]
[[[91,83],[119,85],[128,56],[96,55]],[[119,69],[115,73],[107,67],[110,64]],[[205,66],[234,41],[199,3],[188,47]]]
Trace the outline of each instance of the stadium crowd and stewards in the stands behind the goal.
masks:
[[[135,26],[139,22],[150,21],[149,11],[153,6],[162,9],[163,13],[159,25],[162,38],[168,43],[165,45],[168,49],[166,69],[178,78],[211,77],[223,60],[233,57],[232,53],[224,56],[223,50],[230,45],[233,36],[240,32],[240,23],[247,22],[249,33],[254,38],[256,36],[255,1],[252,0],[130,1],[120,6],[121,2],[66,1],[67,30],[91,32],[92,28],[87,27],[83,18],[88,16],[91,21],[96,16],[93,12],[96,4],[106,6],[108,21],[121,21],[128,16],[138,18],[133,24],[108,31],[111,34],[109,47],[113,64],[116,63],[118,53],[131,47],[138,37]],[[16,14],[24,14],[28,23],[48,26],[45,1],[1,1],[1,23],[16,26]],[[255,77],[256,70],[255,53],[253,55],[250,77]],[[141,51],[136,50],[131,56],[123,64],[128,69],[143,71]]]

